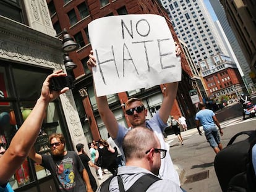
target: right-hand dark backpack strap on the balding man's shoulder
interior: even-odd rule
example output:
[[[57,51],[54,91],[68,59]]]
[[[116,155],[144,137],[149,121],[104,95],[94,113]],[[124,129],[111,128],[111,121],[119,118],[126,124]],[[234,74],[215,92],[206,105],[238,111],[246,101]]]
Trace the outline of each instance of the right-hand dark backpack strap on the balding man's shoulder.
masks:
[[[152,185],[153,183],[157,182],[158,180],[161,180],[161,178],[156,177],[155,175],[152,175],[150,173],[147,173],[140,177],[134,185],[132,185],[129,190],[126,192],[142,192],[147,191],[147,189]]]

